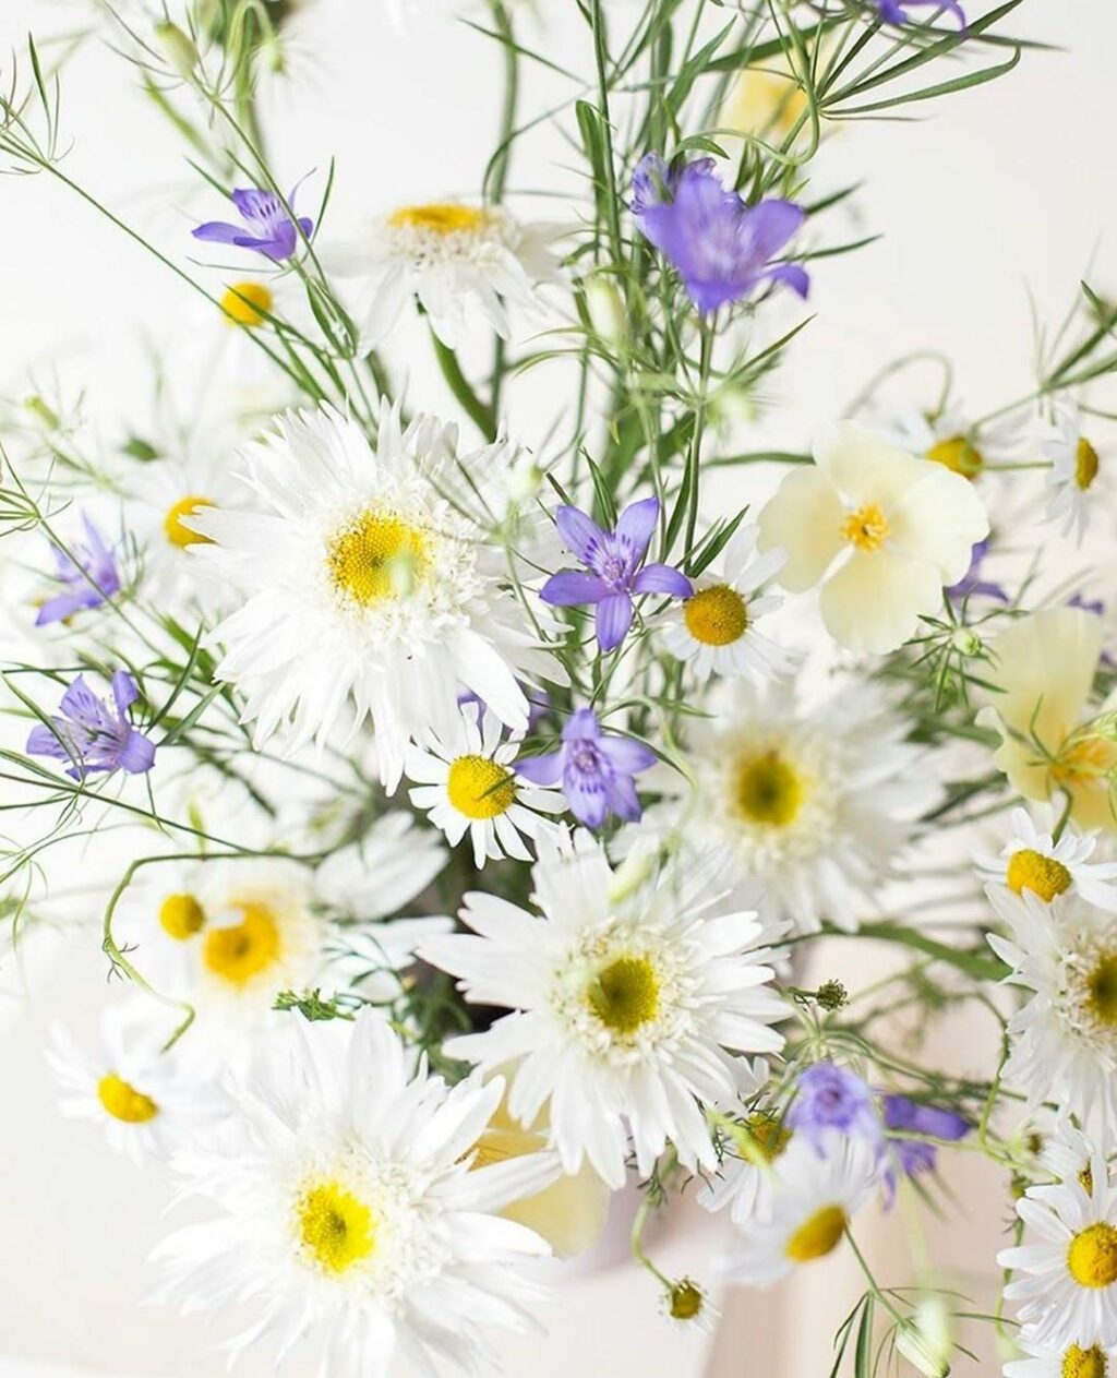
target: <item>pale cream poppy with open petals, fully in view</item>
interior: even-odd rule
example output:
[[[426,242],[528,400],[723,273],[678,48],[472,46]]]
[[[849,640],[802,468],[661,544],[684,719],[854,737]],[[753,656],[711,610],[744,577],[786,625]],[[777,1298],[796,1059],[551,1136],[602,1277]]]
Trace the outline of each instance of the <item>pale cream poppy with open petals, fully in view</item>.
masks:
[[[989,521],[972,484],[853,422],[817,445],[760,511],[760,548],[786,551],[778,579],[821,583],[822,620],[850,650],[904,645],[970,568]]]

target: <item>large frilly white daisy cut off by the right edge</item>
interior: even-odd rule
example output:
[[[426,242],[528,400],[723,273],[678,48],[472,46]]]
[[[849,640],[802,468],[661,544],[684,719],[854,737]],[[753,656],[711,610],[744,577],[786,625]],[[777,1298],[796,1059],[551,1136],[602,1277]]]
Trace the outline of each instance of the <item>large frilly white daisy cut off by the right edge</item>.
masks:
[[[1005,980],[1033,992],[1008,1021],[1005,1082],[1032,1107],[1051,1100],[1083,1122],[1096,1107],[1117,1124],[1117,919],[1073,893],[986,894],[1010,930],[989,945],[1012,969]]]

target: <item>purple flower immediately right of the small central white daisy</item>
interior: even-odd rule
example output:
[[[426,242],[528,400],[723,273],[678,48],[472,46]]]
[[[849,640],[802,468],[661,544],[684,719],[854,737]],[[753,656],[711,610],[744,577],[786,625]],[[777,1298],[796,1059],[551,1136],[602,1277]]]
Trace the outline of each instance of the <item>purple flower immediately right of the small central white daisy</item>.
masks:
[[[532,784],[554,785],[570,812],[588,828],[599,828],[610,813],[625,823],[640,816],[632,776],[656,763],[656,752],[632,737],[601,730],[592,708],[578,708],[562,729],[562,747],[544,757],[521,757],[516,774]]]

